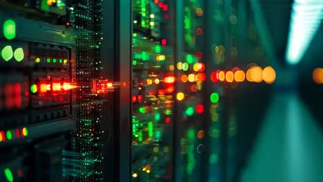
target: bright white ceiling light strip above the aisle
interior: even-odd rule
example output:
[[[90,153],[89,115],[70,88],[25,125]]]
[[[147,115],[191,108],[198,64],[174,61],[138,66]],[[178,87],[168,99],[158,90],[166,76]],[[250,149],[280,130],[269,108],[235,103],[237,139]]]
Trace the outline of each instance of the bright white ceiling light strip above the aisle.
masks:
[[[322,0],[295,0],[291,11],[286,60],[299,63],[323,19]]]

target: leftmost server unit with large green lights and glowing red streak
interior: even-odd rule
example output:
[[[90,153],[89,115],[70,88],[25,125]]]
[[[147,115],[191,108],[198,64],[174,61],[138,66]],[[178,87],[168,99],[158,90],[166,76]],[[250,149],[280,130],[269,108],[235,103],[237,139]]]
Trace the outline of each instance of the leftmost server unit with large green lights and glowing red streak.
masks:
[[[0,181],[66,181],[75,130],[75,31],[66,1],[1,1]]]

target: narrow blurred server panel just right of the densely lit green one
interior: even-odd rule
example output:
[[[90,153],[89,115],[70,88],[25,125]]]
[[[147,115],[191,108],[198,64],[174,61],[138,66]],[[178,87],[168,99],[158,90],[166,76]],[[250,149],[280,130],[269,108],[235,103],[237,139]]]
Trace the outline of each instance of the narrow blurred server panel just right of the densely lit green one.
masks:
[[[205,85],[204,1],[177,6],[176,121],[181,181],[204,181]],[[181,41],[179,41],[181,40]],[[179,41],[179,42],[178,42]]]

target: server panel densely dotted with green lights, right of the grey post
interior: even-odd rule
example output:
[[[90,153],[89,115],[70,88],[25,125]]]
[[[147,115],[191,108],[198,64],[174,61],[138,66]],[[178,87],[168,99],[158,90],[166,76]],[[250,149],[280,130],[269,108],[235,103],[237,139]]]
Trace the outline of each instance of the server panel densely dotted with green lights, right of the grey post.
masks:
[[[171,181],[173,29],[170,1],[133,1],[132,181]]]

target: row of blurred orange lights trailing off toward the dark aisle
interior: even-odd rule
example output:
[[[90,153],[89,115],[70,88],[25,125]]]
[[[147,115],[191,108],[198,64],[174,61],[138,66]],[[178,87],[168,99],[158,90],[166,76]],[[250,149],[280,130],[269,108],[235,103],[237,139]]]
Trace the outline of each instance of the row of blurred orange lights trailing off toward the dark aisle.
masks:
[[[239,70],[239,68],[233,68],[231,71],[217,70],[212,72],[211,81],[226,81],[228,83],[243,82],[245,79],[249,82],[260,83],[262,81],[271,84],[275,82],[276,72],[271,66],[267,66],[262,69],[260,66],[253,66],[246,72]]]

